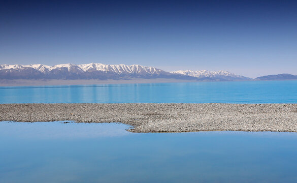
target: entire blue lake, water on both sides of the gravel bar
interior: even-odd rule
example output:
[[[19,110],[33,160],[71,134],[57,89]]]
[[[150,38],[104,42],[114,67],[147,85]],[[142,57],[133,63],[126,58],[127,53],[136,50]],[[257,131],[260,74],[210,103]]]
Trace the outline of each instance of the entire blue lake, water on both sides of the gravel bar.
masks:
[[[0,103],[297,103],[297,81],[0,87]],[[0,122],[0,182],[297,182],[297,133]]]

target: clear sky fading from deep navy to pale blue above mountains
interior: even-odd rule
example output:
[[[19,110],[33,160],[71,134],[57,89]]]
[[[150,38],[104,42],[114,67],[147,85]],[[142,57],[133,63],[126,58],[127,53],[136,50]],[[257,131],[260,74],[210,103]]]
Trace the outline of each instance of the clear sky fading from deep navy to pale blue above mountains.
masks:
[[[7,1],[0,64],[297,75],[297,1]]]

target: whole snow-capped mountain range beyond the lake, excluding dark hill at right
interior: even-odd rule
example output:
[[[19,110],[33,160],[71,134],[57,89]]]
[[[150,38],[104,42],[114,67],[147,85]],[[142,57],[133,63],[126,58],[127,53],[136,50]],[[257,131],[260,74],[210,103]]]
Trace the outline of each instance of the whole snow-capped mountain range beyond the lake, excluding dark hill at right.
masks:
[[[166,72],[154,67],[141,65],[104,64],[60,64],[46,66],[0,65],[0,79],[133,79],[133,78],[172,78],[197,81],[250,80],[227,71],[174,71]]]

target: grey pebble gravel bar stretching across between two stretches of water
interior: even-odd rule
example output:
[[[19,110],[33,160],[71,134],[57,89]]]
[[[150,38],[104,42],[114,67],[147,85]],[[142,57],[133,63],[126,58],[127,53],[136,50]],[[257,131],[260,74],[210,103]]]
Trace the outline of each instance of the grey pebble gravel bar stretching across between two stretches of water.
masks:
[[[131,132],[297,132],[297,104],[0,104],[0,121],[123,123]]]

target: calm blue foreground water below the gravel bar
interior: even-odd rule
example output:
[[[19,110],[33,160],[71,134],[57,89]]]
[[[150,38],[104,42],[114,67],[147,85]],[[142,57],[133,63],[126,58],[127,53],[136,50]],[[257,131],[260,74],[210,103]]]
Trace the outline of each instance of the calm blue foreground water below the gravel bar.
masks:
[[[0,122],[0,182],[297,182],[297,133]]]

